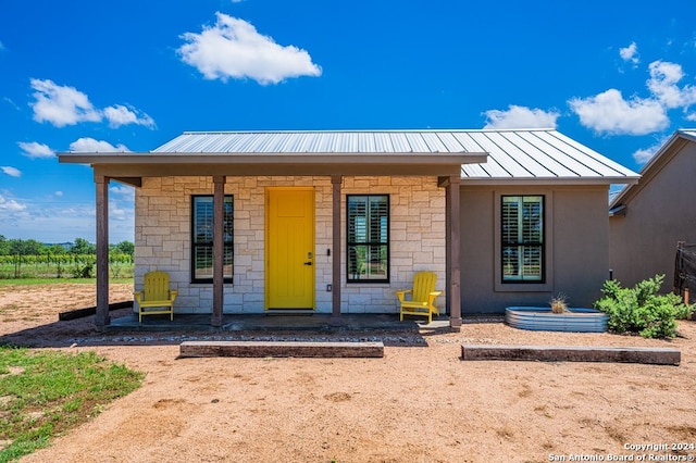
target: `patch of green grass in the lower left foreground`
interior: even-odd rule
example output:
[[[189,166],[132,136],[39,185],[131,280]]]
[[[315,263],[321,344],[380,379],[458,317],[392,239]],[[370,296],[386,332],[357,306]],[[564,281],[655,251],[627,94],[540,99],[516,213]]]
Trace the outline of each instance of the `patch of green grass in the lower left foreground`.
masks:
[[[144,374],[95,352],[0,347],[0,462],[47,447],[140,387]]]

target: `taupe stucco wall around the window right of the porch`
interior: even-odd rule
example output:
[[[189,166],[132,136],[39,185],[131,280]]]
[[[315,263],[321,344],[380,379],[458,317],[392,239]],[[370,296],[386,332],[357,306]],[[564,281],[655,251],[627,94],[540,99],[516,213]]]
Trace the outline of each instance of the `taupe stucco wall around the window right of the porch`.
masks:
[[[500,281],[500,195],[546,198],[546,283]],[[462,313],[504,313],[509,305],[548,305],[563,293],[571,306],[592,306],[609,276],[608,187],[461,188]]]

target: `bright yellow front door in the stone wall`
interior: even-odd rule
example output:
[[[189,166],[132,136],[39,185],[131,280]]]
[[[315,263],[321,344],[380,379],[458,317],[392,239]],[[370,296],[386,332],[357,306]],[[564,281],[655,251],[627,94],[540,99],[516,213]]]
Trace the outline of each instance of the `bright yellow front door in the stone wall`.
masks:
[[[266,309],[314,309],[314,190],[266,190]]]

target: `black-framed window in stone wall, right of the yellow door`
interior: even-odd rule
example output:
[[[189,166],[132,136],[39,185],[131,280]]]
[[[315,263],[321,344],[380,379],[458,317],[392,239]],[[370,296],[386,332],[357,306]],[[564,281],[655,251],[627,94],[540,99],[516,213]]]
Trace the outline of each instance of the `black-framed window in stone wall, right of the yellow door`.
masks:
[[[347,196],[348,281],[389,281],[389,196]]]

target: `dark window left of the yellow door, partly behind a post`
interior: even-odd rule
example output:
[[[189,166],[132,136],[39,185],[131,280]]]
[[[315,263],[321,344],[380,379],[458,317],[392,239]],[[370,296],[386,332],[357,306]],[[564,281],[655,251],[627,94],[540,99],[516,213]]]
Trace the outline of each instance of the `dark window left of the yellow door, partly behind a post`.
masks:
[[[234,263],[234,199],[225,196],[224,201],[224,249],[223,277],[232,283]],[[213,197],[194,196],[191,201],[191,281],[212,283],[213,280]]]

